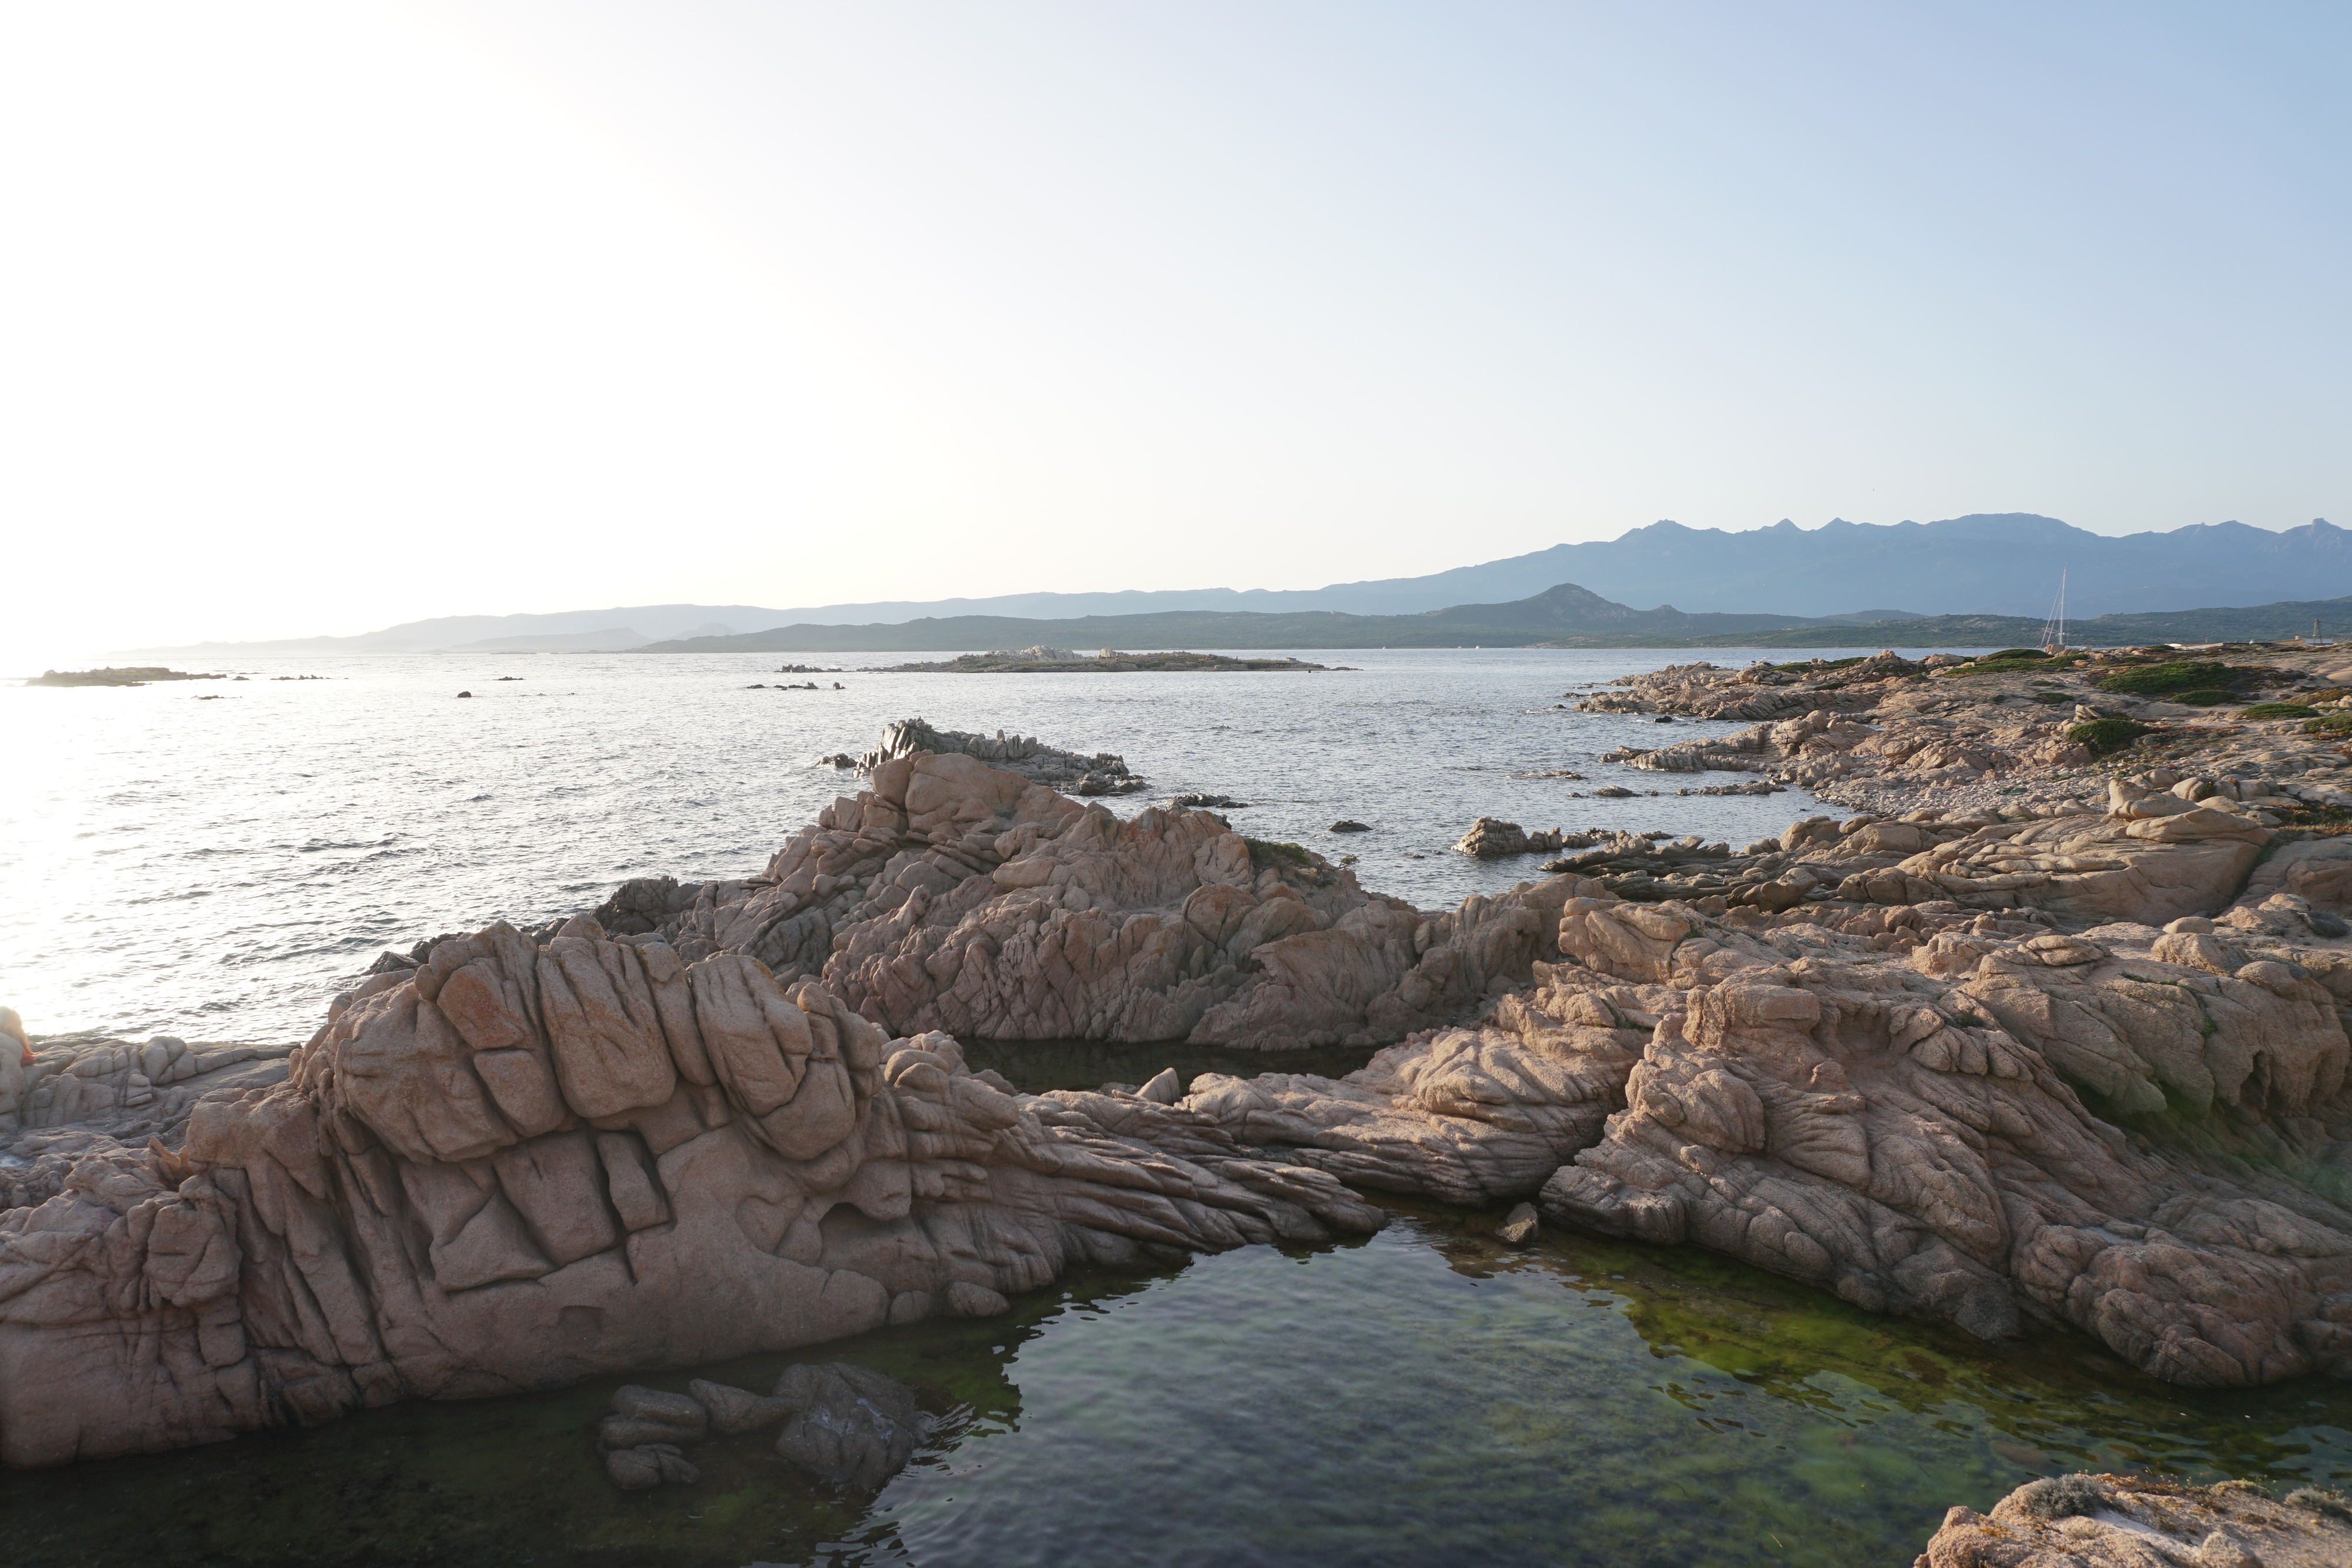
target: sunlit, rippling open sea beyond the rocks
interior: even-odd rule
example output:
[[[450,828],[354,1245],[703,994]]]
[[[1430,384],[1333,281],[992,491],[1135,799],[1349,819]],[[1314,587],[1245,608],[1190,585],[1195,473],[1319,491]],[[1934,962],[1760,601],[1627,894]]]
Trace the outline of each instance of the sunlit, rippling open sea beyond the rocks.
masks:
[[[1691,654],[1305,656],[1362,668],[851,672],[821,677],[823,691],[750,691],[779,679],[786,656],[433,654],[247,661],[235,672],[252,679],[238,684],[7,686],[0,1001],[35,1034],[306,1039],[327,999],[388,945],[572,914],[626,877],[755,872],[856,788],[811,762],[863,752],[913,715],[1120,752],[1152,780],[1152,795],[1108,802],[1120,811],[1178,790],[1247,799],[1249,811],[1230,813],[1242,832],[1355,853],[1367,886],[1423,907],[1538,875],[1536,858],[1449,853],[1477,816],[1740,844],[1816,809],[1797,792],[1675,797],[1693,780],[1592,762],[1733,724],[1555,708],[1569,689]],[[282,679],[292,675],[327,679]],[[473,698],[456,701],[461,689]],[[1588,780],[1517,778],[1548,769]],[[1609,780],[1663,797],[1571,799]],[[1374,832],[1324,832],[1341,816]]]

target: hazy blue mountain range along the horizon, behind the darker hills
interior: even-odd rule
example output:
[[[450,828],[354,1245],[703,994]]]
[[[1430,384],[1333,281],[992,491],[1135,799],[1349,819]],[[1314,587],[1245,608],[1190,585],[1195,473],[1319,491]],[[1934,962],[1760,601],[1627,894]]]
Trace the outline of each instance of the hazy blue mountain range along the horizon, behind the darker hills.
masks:
[[[205,642],[125,649],[125,656],[223,658],[238,654],[468,654],[635,649],[677,637],[724,637],[781,625],[906,625],[913,621],[1021,618],[1077,623],[1176,611],[1418,616],[1517,604],[1555,583],[1581,583],[1618,609],[1661,616],[1736,614],[1755,623],[1877,621],[1915,616],[2039,618],[2067,576],[2074,616],[2176,611],[2187,604],[2263,604],[2281,588],[2352,592],[2352,531],[2314,517],[2300,529],[2211,522],[2169,534],[2089,534],[2032,512],[1976,512],[1943,522],[1830,522],[1722,531],[1653,522],[1618,538],[1552,545],[1479,567],[1414,578],[1305,590],[1167,588],[1127,592],[1016,592],[988,599],[882,599],[762,609],[755,604],[637,604],[529,616],[440,616],[358,637]],[[1771,604],[1776,614],[1750,607]],[[1842,611],[1905,604],[1910,611]],[[837,646],[877,646],[873,639]],[[894,642],[894,649],[915,644]],[[922,644],[931,646],[931,644]],[[946,644],[941,644],[946,646]],[[971,646],[971,644],[964,644]],[[1251,642],[1251,646],[1263,646]],[[1334,646],[1334,644],[1298,644]]]

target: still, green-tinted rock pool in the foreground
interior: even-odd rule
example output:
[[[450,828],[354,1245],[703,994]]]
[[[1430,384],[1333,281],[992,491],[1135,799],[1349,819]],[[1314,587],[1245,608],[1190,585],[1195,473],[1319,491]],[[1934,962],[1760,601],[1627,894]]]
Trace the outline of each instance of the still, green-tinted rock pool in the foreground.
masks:
[[[111,1563],[1910,1563],[2053,1469],[2352,1479],[2352,1389],[2187,1392],[2089,1340],[1985,1347],[1733,1262],[1392,1206],[1367,1241],[1080,1272],[990,1321],[790,1361],[915,1385],[941,1436],[837,1497],[757,1436],[619,1493],[623,1382],[365,1410],[0,1479],[14,1568]],[[684,1389],[691,1373],[640,1378]]]

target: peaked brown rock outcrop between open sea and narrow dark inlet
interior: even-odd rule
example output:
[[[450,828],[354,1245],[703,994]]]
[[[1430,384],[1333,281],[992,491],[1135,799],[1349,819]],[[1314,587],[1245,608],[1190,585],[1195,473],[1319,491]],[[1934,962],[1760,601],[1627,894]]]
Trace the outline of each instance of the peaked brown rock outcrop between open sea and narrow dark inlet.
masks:
[[[628,882],[597,910],[682,959],[821,976],[894,1034],[1381,1044],[1552,957],[1566,882],[1425,917],[1209,811],[1120,820],[929,752],[884,762],[748,882]]]

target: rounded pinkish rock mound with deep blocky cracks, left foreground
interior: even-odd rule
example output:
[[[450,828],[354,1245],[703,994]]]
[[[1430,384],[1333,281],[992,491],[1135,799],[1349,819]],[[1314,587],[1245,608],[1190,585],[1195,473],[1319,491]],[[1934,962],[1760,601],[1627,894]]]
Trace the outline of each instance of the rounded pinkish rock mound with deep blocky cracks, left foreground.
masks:
[[[786,1349],[1002,1309],[1075,1258],[1381,1222],[1181,1110],[1016,1098],[948,1037],[590,922],[440,943],[289,1067],[0,1213],[0,1460]]]

